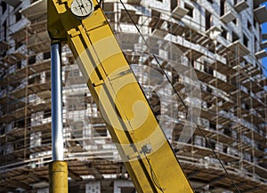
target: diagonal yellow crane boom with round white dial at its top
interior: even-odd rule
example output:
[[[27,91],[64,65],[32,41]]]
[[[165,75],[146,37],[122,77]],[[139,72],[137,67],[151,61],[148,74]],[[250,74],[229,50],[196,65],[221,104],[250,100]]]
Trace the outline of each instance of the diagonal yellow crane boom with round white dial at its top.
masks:
[[[47,3],[52,43],[69,44],[136,190],[193,192],[98,2],[87,18],[90,1]]]

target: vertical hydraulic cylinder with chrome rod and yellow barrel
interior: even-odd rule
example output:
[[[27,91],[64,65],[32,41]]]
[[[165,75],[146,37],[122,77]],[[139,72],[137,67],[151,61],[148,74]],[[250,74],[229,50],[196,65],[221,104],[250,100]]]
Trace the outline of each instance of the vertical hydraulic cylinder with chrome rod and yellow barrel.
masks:
[[[49,192],[68,193],[68,165],[64,162],[61,87],[61,44],[51,45],[52,151],[49,165]]]

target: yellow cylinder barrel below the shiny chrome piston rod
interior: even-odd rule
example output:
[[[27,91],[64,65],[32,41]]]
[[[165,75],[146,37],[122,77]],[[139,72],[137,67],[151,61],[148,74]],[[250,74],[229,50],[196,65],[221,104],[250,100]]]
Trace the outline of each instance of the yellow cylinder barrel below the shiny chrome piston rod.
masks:
[[[68,193],[68,165],[64,161],[49,164],[49,193]]]

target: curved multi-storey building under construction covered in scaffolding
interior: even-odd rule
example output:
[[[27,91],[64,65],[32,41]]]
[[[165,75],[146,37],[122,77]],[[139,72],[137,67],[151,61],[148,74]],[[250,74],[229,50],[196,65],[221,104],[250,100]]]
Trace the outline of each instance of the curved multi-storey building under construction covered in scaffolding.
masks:
[[[0,2],[0,192],[46,193],[46,1]],[[122,2],[106,0],[103,10],[195,192],[267,192],[267,1]],[[69,192],[135,192],[67,45],[62,76]]]

